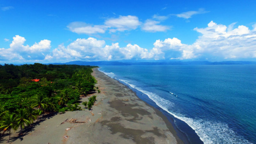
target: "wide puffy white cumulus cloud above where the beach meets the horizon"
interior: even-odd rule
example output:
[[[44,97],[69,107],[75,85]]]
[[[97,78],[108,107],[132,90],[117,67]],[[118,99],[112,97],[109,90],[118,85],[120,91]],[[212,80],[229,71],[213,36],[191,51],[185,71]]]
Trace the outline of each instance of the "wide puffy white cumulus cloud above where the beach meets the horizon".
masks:
[[[67,47],[59,45],[52,51],[46,60],[123,60],[123,59],[148,59],[152,58],[147,49],[137,44],[127,44],[120,47],[118,43],[106,45],[105,41],[89,37],[87,39],[76,39]]]

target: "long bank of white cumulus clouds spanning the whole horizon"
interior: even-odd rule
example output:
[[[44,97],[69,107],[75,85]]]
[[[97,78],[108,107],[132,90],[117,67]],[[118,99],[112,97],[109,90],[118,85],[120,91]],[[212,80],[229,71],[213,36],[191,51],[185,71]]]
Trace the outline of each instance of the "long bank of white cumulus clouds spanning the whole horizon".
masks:
[[[110,23],[115,22],[110,21]],[[157,24],[152,23],[152,25]],[[39,43],[29,46],[24,45],[26,41],[24,37],[17,35],[13,37],[10,48],[0,49],[0,60],[57,62],[137,59],[210,61],[255,59],[256,24],[252,26],[252,30],[243,25],[233,28],[235,24],[225,26],[211,21],[206,28],[194,28],[201,36],[193,44],[183,44],[180,39],[173,37],[156,40],[151,49],[141,48],[138,44],[127,44],[124,47],[120,47],[118,43],[108,45],[104,40],[89,37],[87,39],[78,38],[67,46],[60,44],[51,51],[51,41],[49,40],[41,40]],[[112,28],[123,30],[136,26],[120,25],[119,27],[112,26]],[[150,30],[150,27],[148,30]]]

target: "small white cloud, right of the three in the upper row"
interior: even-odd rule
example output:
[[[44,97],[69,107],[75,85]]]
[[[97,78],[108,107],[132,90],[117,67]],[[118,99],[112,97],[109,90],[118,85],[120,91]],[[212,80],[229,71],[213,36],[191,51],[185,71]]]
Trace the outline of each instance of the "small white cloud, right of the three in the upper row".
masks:
[[[146,20],[146,22],[142,26],[142,30],[145,30],[147,32],[163,32],[170,29],[168,26],[158,25],[159,23],[159,21],[155,20]]]

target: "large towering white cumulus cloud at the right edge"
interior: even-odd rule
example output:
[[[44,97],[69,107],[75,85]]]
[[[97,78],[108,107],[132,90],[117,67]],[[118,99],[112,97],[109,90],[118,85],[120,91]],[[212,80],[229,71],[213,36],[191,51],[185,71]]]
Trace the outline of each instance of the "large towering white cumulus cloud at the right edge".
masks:
[[[202,36],[191,45],[182,44],[177,38],[156,40],[154,48],[158,55],[155,57],[180,60],[256,58],[256,32],[248,27],[240,25],[233,30],[227,30],[227,26],[211,21],[208,27],[194,30]]]

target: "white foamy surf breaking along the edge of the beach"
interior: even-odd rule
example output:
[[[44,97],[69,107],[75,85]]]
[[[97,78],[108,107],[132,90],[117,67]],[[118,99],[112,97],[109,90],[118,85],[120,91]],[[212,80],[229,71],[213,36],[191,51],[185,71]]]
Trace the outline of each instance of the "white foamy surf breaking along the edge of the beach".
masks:
[[[135,88],[138,91],[148,95],[148,97],[153,100],[160,108],[164,109],[172,116],[187,123],[193,130],[195,130],[196,134],[205,144],[250,144],[248,140],[245,140],[243,137],[238,136],[236,132],[231,130],[227,124],[203,119],[193,119],[183,116],[181,114],[171,112],[169,109],[172,109],[174,107],[174,103],[172,103],[171,101],[163,99],[155,93],[142,90],[141,88],[136,87],[133,84],[129,84],[129,81],[127,80],[119,80],[124,82],[125,84],[130,85],[132,88]]]

